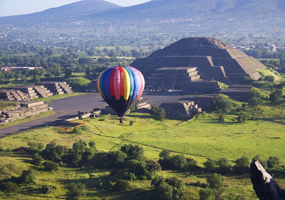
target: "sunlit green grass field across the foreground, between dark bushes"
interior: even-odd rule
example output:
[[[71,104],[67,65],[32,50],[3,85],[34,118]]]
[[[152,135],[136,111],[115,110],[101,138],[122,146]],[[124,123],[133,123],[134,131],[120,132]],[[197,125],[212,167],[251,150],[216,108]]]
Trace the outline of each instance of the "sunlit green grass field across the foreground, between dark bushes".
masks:
[[[85,119],[82,123],[87,126],[81,134],[73,134],[71,130],[62,127],[43,127],[22,133],[12,134],[0,139],[0,148],[7,153],[0,156],[0,179],[19,176],[22,170],[29,167],[31,158],[26,154],[11,153],[10,150],[18,147],[27,147],[29,141],[47,144],[55,141],[57,144],[71,148],[79,139],[96,142],[98,152],[118,150],[124,144],[138,144],[145,150],[145,157],[157,160],[162,149],[168,149],[173,154],[184,154],[198,161],[203,166],[206,158],[227,158],[234,160],[242,155],[250,160],[256,154],[266,160],[269,156],[280,158],[285,163],[283,154],[284,125],[265,121],[247,121],[237,123],[236,116],[226,115],[224,122],[216,120],[215,113],[199,114],[197,118],[188,121],[165,120],[156,121],[149,114],[130,113],[124,124],[120,124],[117,117],[103,116],[101,118]],[[134,121],[129,125],[129,121]],[[270,151],[268,148],[270,147]],[[207,173],[177,172],[162,170],[159,175],[164,177],[176,176],[186,183],[185,194],[192,199],[198,199],[199,187],[192,184],[200,181],[206,183]],[[285,187],[283,177],[275,177],[281,187]],[[31,185],[26,192],[21,192],[13,199],[63,199],[67,192],[66,187],[72,182],[83,182],[87,187],[87,197],[105,199],[134,199],[139,189],[149,190],[150,181],[134,181],[131,190],[126,192],[110,192],[98,189],[99,179],[114,181],[108,171],[93,170],[90,178],[86,171],[63,165],[60,171],[47,173],[39,170],[36,176],[36,185]],[[227,176],[225,178],[225,192],[227,196],[245,194],[246,199],[257,200],[252,189],[250,175]],[[50,194],[41,194],[39,188],[43,185],[54,186],[56,189]],[[28,194],[29,193],[29,194]],[[95,198],[96,199],[96,198]]]

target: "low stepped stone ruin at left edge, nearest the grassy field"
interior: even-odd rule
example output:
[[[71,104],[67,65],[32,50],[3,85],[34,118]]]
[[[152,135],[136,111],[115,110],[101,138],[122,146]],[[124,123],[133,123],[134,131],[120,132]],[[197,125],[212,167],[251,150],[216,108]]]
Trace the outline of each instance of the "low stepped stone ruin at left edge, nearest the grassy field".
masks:
[[[35,115],[52,110],[52,107],[49,107],[47,104],[44,104],[43,101],[29,101],[22,102],[15,108],[4,109],[0,114],[0,124],[10,123],[17,119],[31,118]]]

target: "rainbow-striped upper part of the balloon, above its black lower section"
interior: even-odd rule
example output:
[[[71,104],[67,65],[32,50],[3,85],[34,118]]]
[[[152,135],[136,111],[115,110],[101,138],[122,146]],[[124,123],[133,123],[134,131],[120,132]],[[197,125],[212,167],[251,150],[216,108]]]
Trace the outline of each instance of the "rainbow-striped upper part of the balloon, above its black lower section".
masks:
[[[97,79],[97,88],[103,99],[124,100],[139,98],[145,87],[145,79],[133,67],[110,67],[105,69]]]

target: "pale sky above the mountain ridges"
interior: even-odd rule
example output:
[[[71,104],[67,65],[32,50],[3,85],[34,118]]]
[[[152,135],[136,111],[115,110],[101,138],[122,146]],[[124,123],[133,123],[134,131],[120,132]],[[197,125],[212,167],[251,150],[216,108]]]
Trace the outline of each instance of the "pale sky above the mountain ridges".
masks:
[[[0,0],[0,17],[30,14],[80,0]],[[105,0],[119,6],[133,6],[150,0]]]

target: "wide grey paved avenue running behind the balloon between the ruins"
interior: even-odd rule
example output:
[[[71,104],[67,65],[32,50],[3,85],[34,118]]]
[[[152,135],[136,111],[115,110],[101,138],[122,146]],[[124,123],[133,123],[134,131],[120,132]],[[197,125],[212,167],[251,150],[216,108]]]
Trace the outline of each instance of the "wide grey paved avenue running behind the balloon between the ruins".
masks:
[[[189,100],[190,98],[177,93],[145,93],[142,95],[145,101],[150,105],[159,106],[162,102],[170,102],[175,100]],[[56,112],[45,118],[35,119],[29,122],[17,124],[7,128],[0,129],[0,138],[21,131],[45,126],[58,119],[64,119],[69,115],[77,114],[77,111],[90,112],[93,108],[105,108],[107,103],[102,99],[99,94],[82,94],[79,96],[67,97],[54,100],[48,103]],[[61,111],[61,113],[59,112]]]

